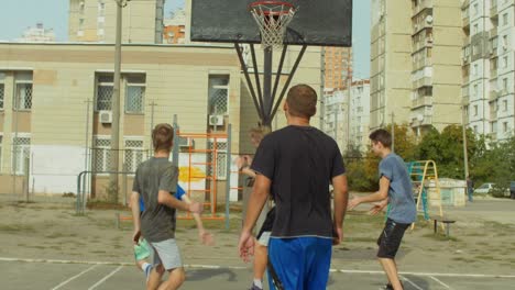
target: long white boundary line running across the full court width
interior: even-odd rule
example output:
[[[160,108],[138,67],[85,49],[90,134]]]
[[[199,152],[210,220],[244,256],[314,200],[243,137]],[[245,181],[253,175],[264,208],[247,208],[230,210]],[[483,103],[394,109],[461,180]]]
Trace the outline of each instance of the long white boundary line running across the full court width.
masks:
[[[12,258],[12,257],[0,257],[0,261],[25,261],[25,263],[48,263],[48,264],[86,264],[86,265],[111,265],[111,266],[134,266],[134,263],[125,261],[88,261],[88,260],[58,260],[58,259],[26,259],[26,258]],[[220,266],[220,265],[202,265],[202,264],[190,264],[184,265],[185,268],[204,268],[204,269],[232,269],[243,270],[249,267],[245,266]],[[384,271],[377,270],[346,270],[346,269],[329,269],[331,272],[344,272],[344,274],[373,274],[384,275]],[[427,277],[462,277],[462,278],[515,278],[515,275],[489,275],[489,274],[452,274],[452,272],[399,272],[399,275],[413,275],[413,276],[427,276]]]

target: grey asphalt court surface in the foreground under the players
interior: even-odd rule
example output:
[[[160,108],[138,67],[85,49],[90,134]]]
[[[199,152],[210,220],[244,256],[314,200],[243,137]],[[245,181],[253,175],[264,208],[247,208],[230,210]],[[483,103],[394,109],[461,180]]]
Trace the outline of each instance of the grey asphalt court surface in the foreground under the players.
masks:
[[[249,288],[252,272],[244,267],[188,265],[180,289]],[[514,276],[402,272],[405,289],[515,289]],[[144,289],[144,277],[130,264],[0,258],[0,289]],[[332,269],[327,289],[380,289],[381,271]],[[265,288],[267,289],[267,288]]]

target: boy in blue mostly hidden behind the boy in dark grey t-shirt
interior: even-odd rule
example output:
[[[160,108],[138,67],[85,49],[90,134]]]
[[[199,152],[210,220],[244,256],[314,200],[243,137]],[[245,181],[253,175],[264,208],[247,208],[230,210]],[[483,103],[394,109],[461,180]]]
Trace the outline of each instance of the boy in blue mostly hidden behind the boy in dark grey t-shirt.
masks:
[[[186,203],[191,203],[191,200],[188,198],[186,194],[186,191],[177,185],[177,192],[175,192],[175,198],[184,201]],[[143,213],[145,210],[145,203],[143,201],[143,198],[140,196],[140,213]],[[198,213],[194,213],[194,219],[195,222],[197,223],[197,228],[198,228],[198,237],[200,242],[204,245],[213,245],[213,236],[209,232],[206,232],[206,228],[204,228],[202,220],[200,219],[200,215]],[[152,271],[153,265],[149,264],[146,260],[151,255],[150,250],[150,245],[149,243],[142,237],[140,238],[140,243],[138,245],[134,245],[134,258],[135,258],[135,265],[139,269],[142,269],[143,272],[145,274],[145,277],[149,277],[150,272]]]

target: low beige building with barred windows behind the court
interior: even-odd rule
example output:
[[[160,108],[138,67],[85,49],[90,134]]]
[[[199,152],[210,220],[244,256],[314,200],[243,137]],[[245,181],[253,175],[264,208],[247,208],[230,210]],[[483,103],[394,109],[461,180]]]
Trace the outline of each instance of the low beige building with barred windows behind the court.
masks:
[[[102,171],[113,154],[113,51],[105,44],[0,44],[0,192],[12,192],[12,182],[22,182],[20,176],[26,172],[30,192],[76,192],[79,172],[94,171],[87,178],[88,193],[106,197],[108,175]],[[293,62],[285,64],[285,71],[292,66]],[[306,53],[292,86],[320,88],[319,71],[320,53],[314,48]],[[282,85],[285,80],[282,77]],[[219,191],[227,179],[227,158],[232,161],[240,153],[254,152],[248,132],[259,119],[233,46],[123,45],[121,81],[123,170],[134,171],[149,156],[151,127],[172,123],[174,115],[186,133],[224,134],[232,125],[232,155],[227,155],[227,138],[216,142],[221,150],[217,161],[223,165],[217,169]],[[273,125],[285,125],[282,110]],[[187,154],[190,141],[176,142],[179,155]],[[213,142],[195,140],[193,148],[212,148]],[[128,178],[121,186],[127,193],[132,185],[131,175]],[[231,182],[237,179],[238,174],[231,174]]]

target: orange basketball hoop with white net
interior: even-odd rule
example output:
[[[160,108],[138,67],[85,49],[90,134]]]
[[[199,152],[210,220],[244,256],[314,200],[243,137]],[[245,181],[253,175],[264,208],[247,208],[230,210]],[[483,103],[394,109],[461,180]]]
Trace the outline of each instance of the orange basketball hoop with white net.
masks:
[[[295,15],[295,7],[284,1],[256,1],[249,5],[261,32],[263,48],[280,48],[286,27]]]

